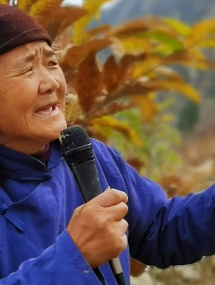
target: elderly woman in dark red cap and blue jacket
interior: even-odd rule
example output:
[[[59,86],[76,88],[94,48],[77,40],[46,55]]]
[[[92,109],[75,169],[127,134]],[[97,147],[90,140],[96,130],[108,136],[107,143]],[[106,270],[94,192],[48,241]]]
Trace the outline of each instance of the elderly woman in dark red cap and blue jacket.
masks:
[[[129,284],[129,253],[159,268],[214,254],[214,186],[168,200],[95,140],[104,192],[84,204],[59,150],[66,83],[50,38],[6,5],[0,27],[0,284],[116,285],[118,255]]]

